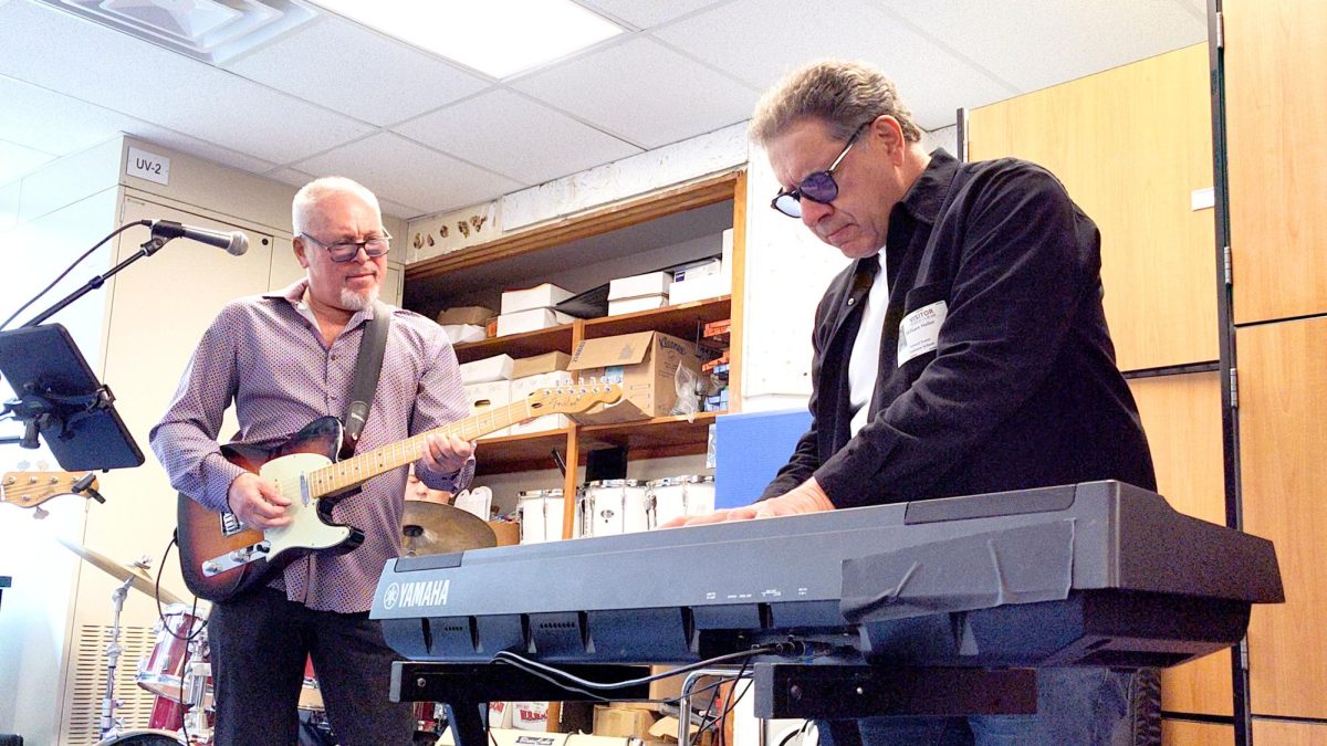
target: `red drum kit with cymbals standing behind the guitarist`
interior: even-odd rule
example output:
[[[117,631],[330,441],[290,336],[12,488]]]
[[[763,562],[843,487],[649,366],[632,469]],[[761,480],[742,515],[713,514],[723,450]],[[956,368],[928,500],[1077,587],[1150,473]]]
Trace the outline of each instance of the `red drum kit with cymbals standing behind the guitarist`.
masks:
[[[110,558],[60,540],[89,564],[105,571],[121,585],[111,593],[114,621],[106,645],[106,689],[101,709],[101,741],[97,746],[208,746],[212,743],[212,665],[207,644],[208,608],[186,603],[151,576],[147,558],[119,564]],[[401,548],[406,556],[456,552],[496,546],[492,528],[480,518],[449,504],[406,500]],[[158,599],[163,608],[155,625],[155,641],[146,658],[138,662],[135,684],[150,692],[155,701],[146,729],[125,729],[115,717],[121,702],[115,700],[115,670],[123,649],[119,645],[119,613],[129,588]],[[308,660],[304,686],[300,690],[300,743],[336,743],[322,705],[322,694]],[[441,702],[415,702],[415,742],[437,739],[447,721]],[[422,737],[422,739],[421,739]]]

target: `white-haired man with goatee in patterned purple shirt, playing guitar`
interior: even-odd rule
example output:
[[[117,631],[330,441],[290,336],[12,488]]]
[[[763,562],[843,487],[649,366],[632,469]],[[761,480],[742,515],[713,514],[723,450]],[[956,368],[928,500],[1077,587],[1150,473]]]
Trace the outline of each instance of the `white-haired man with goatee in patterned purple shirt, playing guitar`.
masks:
[[[151,445],[180,492],[245,526],[291,523],[268,479],[226,461],[216,445],[234,402],[236,441],[269,447],[325,415],[344,417],[360,341],[389,313],[378,385],[358,453],[460,419],[456,356],[433,321],[376,304],[391,236],[378,200],[345,178],[304,186],[292,204],[293,248],[307,276],[236,300],[203,335]],[[429,487],[456,491],[474,475],[474,445],[433,435],[414,462]],[[399,554],[406,469],[374,477],[340,500],[337,523],[364,531],[346,554],[313,552],[263,587],[216,603],[208,620],[216,743],[296,743],[305,658],[341,743],[409,743],[409,704],[389,701],[395,653],[368,619],[378,575]]]

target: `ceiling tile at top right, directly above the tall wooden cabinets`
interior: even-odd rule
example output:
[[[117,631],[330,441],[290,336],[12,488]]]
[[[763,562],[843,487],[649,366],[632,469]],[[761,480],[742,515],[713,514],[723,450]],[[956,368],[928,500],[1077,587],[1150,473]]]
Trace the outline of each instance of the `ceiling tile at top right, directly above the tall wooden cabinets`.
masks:
[[[1072,11],[1070,11],[1072,8]],[[889,9],[1020,92],[1108,70],[1205,41],[1208,28],[1184,3],[1112,0],[890,0]],[[1036,54],[1028,54],[1036,49]]]

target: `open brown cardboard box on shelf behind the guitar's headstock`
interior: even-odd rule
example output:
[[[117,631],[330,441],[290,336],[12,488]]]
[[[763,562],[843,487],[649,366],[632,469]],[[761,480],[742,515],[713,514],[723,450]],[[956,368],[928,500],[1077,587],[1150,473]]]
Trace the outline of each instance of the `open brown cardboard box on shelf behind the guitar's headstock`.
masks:
[[[572,354],[568,373],[621,382],[622,398],[614,405],[596,405],[572,419],[606,423],[671,414],[678,398],[675,378],[679,368],[701,376],[697,346],[662,332],[584,340]]]

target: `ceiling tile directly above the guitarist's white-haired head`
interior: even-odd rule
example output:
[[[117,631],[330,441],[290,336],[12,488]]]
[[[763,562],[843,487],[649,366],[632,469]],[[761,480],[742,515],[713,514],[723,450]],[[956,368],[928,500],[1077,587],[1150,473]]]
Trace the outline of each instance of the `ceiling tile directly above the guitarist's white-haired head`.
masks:
[[[342,175],[381,199],[438,212],[494,199],[522,185],[411,142],[381,133],[296,165],[318,175]]]

